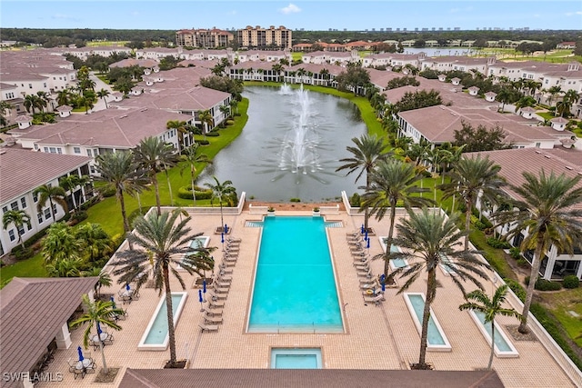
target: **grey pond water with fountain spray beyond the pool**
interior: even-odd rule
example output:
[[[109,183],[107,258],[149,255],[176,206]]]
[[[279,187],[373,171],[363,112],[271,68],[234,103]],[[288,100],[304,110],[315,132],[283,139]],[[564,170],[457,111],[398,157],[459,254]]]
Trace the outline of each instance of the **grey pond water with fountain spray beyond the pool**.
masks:
[[[355,104],[302,89],[250,86],[248,122],[243,133],[218,153],[200,177],[230,180],[240,194],[256,200],[318,202],[348,195],[365,184],[356,173],[336,173],[340,159],[351,157],[346,146],[366,133]]]

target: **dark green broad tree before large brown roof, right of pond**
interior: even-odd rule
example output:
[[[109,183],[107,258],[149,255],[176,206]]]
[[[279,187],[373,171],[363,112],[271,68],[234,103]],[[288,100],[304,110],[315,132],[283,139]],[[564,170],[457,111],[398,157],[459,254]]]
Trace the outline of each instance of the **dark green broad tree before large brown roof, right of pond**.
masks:
[[[506,143],[507,134],[498,124],[490,129],[482,124],[474,128],[473,125],[465,121],[461,122],[461,125],[462,129],[455,130],[453,145],[465,145],[463,152],[504,150],[512,147],[511,143]]]

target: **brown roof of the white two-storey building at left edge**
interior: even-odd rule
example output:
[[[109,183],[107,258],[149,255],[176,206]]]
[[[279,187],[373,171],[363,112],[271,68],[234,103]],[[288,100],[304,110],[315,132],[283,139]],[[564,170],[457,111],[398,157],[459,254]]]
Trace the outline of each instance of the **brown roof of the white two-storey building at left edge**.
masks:
[[[5,147],[0,149],[0,203],[25,194],[87,164],[90,157],[47,154]]]

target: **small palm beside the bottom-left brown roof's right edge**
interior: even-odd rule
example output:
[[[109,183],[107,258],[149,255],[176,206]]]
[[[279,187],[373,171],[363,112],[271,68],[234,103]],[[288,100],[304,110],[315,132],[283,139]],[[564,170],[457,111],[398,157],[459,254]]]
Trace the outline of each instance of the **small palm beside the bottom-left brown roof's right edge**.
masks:
[[[72,327],[80,326],[83,323],[87,324],[85,332],[83,333],[83,346],[85,349],[89,345],[89,339],[91,338],[91,329],[95,327],[95,332],[100,334],[101,324],[111,327],[114,330],[121,330],[121,326],[115,323],[114,316],[122,315],[123,310],[115,308],[115,304],[111,301],[95,301],[92,302],[89,299],[89,295],[86,293],[82,296],[83,304],[85,306],[85,313],[74,322],[71,323]],[[95,324],[95,326],[93,326]],[[103,363],[103,372],[108,373],[107,363],[105,363],[105,353],[103,349],[103,342],[99,341],[99,350],[101,350],[101,362]]]

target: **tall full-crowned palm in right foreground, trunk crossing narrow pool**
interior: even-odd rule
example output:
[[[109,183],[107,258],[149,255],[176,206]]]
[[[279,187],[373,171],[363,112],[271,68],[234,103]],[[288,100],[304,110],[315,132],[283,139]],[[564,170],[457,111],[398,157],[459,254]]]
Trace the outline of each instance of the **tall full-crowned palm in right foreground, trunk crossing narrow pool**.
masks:
[[[420,335],[420,354],[416,369],[426,369],[426,339],[428,333],[428,319],[430,305],[437,296],[437,267],[447,260],[447,267],[452,276],[450,279],[465,294],[464,283],[470,281],[477,287],[483,288],[475,275],[486,278],[484,268],[490,268],[487,263],[479,260],[476,251],[457,251],[459,240],[464,232],[457,229],[457,214],[447,218],[441,212],[429,211],[426,207],[420,213],[408,211],[409,217],[396,225],[394,242],[403,248],[399,257],[417,259],[407,268],[397,268],[391,277],[400,274],[400,278],[407,278],[398,293],[403,293],[426,271],[426,302],[422,316],[422,331]],[[454,264],[452,264],[454,263]]]

